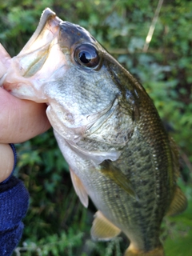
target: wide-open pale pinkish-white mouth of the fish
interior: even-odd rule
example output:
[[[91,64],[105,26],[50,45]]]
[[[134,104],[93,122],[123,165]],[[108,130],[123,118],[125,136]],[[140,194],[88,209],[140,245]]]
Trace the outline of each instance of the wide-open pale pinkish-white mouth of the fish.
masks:
[[[61,22],[52,10],[44,10],[38,27],[26,46],[9,60],[9,65],[4,63],[7,70],[0,77],[0,86],[16,97],[47,102],[46,95],[42,94],[42,83],[66,63],[58,46]],[[3,54],[2,50],[1,52]],[[37,92],[38,98],[35,98]]]

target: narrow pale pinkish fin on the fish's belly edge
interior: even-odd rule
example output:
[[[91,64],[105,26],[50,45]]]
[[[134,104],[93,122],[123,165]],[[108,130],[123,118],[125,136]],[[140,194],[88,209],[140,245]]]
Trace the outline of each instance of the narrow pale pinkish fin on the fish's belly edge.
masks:
[[[78,198],[82,202],[82,205],[86,208],[88,207],[89,198],[88,194],[86,193],[85,187],[82,185],[82,181],[76,174],[74,174],[74,171],[70,169],[70,178],[72,180],[72,183],[74,185],[74,190],[76,194],[78,195]]]

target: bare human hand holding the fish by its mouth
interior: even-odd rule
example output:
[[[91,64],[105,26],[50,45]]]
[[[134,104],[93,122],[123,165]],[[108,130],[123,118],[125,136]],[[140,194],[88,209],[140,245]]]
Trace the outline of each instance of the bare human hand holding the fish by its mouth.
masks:
[[[6,67],[9,55],[2,50],[0,57],[2,67]],[[9,177],[14,166],[14,154],[8,143],[25,142],[42,134],[50,128],[50,122],[46,118],[46,104],[15,98],[1,87],[0,102],[0,182],[2,182]]]

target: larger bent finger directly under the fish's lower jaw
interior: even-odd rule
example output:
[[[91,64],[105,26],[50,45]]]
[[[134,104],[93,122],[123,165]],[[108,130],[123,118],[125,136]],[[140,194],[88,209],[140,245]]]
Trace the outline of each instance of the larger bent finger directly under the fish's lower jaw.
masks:
[[[0,143],[24,142],[50,128],[46,104],[21,100],[0,88]]]

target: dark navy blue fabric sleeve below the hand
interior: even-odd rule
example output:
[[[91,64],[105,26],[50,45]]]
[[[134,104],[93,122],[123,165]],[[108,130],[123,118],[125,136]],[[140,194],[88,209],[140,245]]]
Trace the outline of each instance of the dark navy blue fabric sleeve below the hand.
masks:
[[[6,181],[0,183],[1,256],[10,256],[18,245],[22,237],[22,218],[26,215],[28,205],[29,194],[22,181],[10,176]]]

